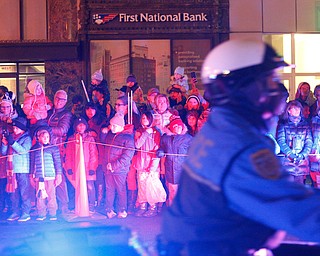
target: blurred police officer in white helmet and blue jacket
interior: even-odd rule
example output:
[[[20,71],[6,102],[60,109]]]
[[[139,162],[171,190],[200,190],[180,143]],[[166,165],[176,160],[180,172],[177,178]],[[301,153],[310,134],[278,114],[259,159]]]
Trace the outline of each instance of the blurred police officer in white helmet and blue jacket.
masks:
[[[250,255],[278,246],[286,232],[320,242],[320,191],[290,182],[264,135],[288,96],[277,75],[284,66],[255,41],[230,40],[206,57],[213,111],[163,217],[167,255]]]

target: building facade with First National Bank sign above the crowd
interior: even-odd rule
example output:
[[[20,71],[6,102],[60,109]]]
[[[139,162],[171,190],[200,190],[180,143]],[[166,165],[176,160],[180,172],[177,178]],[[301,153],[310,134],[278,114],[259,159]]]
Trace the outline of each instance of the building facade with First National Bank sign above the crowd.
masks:
[[[131,73],[145,93],[165,92],[177,66],[199,76],[229,38],[263,39],[294,63],[283,72],[290,98],[300,82],[320,83],[318,0],[2,0],[0,14],[0,84],[19,102],[30,79],[49,96],[83,94],[100,68],[113,99]]]

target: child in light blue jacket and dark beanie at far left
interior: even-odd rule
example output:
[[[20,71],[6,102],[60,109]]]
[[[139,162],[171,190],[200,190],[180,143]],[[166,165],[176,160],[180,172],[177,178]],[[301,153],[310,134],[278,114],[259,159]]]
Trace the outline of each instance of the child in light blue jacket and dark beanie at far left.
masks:
[[[13,134],[5,133],[2,138],[2,155],[7,155],[7,192],[10,192],[12,214],[7,220],[25,222],[30,220],[30,148],[31,137],[27,120],[23,117],[13,119]],[[20,201],[22,214],[19,215]],[[20,216],[20,218],[19,218]]]

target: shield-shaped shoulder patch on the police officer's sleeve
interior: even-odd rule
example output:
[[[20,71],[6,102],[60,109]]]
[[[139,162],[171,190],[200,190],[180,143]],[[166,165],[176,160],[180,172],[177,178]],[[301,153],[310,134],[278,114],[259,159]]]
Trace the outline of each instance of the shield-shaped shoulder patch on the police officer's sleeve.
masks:
[[[257,173],[266,179],[277,179],[281,173],[278,159],[269,149],[262,149],[250,156]]]

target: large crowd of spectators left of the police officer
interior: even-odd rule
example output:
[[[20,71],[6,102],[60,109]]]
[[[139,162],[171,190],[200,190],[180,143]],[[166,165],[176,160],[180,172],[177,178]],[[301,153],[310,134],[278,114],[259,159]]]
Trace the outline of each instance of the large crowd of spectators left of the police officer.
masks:
[[[22,107],[1,86],[0,210],[19,222],[30,220],[32,211],[38,221],[72,213],[81,136],[90,214],[105,209],[108,218],[156,216],[163,203],[172,203],[181,163],[210,112],[196,83],[177,67],[167,93],[151,88],[145,99],[131,74],[112,106],[97,70],[88,101],[75,95],[70,109],[64,90],[51,101],[37,80],[27,83]]]

